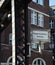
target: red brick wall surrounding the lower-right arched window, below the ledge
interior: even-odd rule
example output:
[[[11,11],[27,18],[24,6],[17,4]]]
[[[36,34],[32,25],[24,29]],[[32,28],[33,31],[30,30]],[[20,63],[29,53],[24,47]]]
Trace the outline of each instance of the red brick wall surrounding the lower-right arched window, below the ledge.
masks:
[[[52,65],[52,53],[48,51],[42,51],[42,53],[39,52],[32,52],[31,58],[29,58],[29,63],[32,65],[32,62],[35,58],[42,58],[45,60],[46,65]]]

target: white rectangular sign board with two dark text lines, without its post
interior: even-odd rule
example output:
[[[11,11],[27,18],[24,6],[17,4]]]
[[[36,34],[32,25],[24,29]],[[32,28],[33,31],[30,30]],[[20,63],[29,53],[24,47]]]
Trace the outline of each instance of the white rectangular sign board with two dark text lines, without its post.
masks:
[[[32,32],[33,41],[50,41],[49,31],[36,30]]]

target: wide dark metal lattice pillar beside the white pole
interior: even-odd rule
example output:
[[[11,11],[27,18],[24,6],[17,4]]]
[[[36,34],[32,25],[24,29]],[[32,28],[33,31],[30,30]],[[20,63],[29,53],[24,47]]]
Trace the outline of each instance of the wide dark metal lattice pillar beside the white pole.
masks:
[[[24,13],[21,14],[21,11],[24,10]],[[22,26],[20,25],[21,24],[21,19],[22,19],[22,15],[24,15],[24,28],[25,28],[25,31],[22,30]],[[25,41],[22,42],[22,39],[21,38],[21,33],[20,32],[23,32],[25,33]],[[28,2],[26,1],[22,1],[22,2],[18,2],[18,1],[15,1],[15,40],[16,40],[16,65],[17,65],[17,61],[19,61],[17,59],[17,55],[21,54],[22,56],[25,57],[25,59],[23,61],[19,61],[19,64],[20,65],[23,65],[22,62],[25,63],[25,65],[29,65],[28,64]],[[21,48],[21,46],[19,44],[21,44],[21,42],[25,45],[24,47],[24,50],[25,50],[25,53],[23,53],[23,49]],[[17,53],[17,51],[19,51]]]

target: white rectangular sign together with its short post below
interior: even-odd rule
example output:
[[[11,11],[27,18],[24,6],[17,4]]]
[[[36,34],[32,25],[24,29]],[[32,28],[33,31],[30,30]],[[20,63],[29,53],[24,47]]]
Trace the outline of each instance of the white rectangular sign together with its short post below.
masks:
[[[41,53],[41,44],[50,42],[50,30],[33,30],[31,32],[31,42],[39,44],[39,52]],[[36,52],[34,49],[32,49]]]

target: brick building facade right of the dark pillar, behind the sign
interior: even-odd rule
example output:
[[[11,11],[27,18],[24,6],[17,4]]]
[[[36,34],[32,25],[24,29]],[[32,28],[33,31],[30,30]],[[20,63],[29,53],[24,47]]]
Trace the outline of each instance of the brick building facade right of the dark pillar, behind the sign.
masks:
[[[29,4],[29,22],[30,26],[30,35],[31,35],[31,55],[30,55],[30,65],[52,65],[52,52],[50,50],[50,43],[41,42],[41,53],[38,52],[39,42],[35,40],[36,32],[46,31],[50,32],[50,7],[49,0],[32,0]],[[29,24],[29,25],[30,25]],[[40,32],[41,33],[41,32]],[[43,40],[42,40],[43,41]],[[48,60],[47,60],[48,59]],[[51,62],[50,62],[51,61]]]

